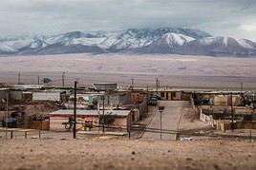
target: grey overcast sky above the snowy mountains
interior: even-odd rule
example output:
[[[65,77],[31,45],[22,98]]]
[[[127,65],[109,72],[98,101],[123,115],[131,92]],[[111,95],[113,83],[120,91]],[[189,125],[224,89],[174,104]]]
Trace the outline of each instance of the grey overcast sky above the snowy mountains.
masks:
[[[0,36],[200,28],[256,41],[256,0],[1,0]]]

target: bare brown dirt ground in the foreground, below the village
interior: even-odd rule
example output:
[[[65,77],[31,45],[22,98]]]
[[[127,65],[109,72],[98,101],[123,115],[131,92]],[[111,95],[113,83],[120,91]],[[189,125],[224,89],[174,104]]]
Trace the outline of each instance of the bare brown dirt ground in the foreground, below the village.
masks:
[[[256,142],[0,139],[1,169],[255,169]]]

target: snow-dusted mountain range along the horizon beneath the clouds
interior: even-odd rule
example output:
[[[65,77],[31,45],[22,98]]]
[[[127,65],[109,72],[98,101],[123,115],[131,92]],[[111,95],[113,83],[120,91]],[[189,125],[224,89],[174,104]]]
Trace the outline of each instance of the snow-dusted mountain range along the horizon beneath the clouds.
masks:
[[[214,37],[193,28],[130,28],[122,31],[71,31],[53,36],[0,38],[2,55],[136,53],[256,57],[256,42]]]

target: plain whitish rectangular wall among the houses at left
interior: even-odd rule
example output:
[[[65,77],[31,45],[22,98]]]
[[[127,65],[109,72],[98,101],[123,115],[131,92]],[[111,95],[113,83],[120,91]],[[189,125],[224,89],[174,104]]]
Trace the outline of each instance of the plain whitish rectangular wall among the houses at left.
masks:
[[[60,92],[38,91],[32,92],[33,101],[60,101]]]

